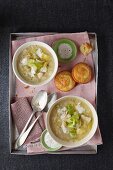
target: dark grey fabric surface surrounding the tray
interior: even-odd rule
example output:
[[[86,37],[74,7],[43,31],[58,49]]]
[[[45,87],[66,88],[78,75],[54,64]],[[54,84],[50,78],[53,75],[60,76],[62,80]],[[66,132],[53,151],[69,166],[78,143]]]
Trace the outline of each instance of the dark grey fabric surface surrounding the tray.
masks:
[[[104,145],[97,155],[15,156],[8,143],[10,32],[96,32],[99,48],[98,115]],[[0,170],[113,169],[113,1],[0,0]]]

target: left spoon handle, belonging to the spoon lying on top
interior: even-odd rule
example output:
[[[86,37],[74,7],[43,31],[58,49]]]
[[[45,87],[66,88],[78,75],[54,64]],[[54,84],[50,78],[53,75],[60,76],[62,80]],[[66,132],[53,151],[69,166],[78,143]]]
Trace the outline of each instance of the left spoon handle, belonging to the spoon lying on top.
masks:
[[[24,134],[24,132],[26,131],[26,129],[27,129],[27,127],[28,127],[31,119],[33,118],[34,114],[35,114],[35,111],[32,112],[32,114],[31,114],[30,118],[28,119],[25,127],[23,128],[22,132],[20,133],[19,137],[17,138],[17,140],[16,140],[16,142],[15,142],[15,145],[14,145],[14,148],[15,148],[15,149],[17,149],[17,148],[19,147],[19,146],[18,146],[18,142],[19,142],[20,138],[22,137],[22,135]]]

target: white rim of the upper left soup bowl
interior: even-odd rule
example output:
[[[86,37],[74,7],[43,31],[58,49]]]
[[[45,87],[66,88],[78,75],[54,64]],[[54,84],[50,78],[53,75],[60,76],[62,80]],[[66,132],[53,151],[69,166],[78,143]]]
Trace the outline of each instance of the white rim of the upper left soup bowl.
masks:
[[[18,70],[17,70],[17,59],[18,59],[18,56],[19,54],[25,49],[27,48],[28,46],[30,45],[39,45],[41,47],[44,47],[47,49],[47,51],[50,52],[50,54],[52,55],[53,57],[53,60],[54,60],[54,71],[53,73],[51,74],[51,76],[41,82],[40,84],[37,83],[37,84],[32,84],[28,81],[26,81],[25,79],[22,78],[22,76],[19,74]],[[44,84],[47,84],[49,83],[55,76],[56,72],[57,72],[57,69],[58,69],[58,59],[57,59],[57,56],[56,56],[56,53],[54,52],[54,50],[49,46],[47,45],[46,43],[43,43],[43,42],[40,42],[40,41],[31,41],[31,42],[27,42],[27,43],[24,43],[23,45],[21,45],[17,50],[16,52],[14,53],[14,56],[13,56],[13,62],[12,62],[12,67],[13,67],[13,71],[14,71],[14,74],[15,76],[22,82],[24,83],[25,85],[28,85],[28,86],[42,86]]]

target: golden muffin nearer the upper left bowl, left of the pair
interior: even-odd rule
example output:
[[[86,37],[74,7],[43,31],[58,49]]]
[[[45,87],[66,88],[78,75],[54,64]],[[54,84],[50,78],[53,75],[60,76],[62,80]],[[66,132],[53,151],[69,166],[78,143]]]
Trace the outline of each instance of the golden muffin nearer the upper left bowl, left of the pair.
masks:
[[[54,79],[56,88],[60,91],[67,92],[73,89],[76,82],[73,80],[71,73],[69,71],[59,72]]]

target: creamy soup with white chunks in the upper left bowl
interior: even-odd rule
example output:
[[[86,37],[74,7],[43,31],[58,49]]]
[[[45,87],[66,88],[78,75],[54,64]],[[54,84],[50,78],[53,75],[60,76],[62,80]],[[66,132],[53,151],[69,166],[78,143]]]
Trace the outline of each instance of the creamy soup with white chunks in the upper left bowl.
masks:
[[[47,49],[30,45],[20,53],[17,69],[27,82],[38,84],[47,80],[53,73],[53,57]]]

